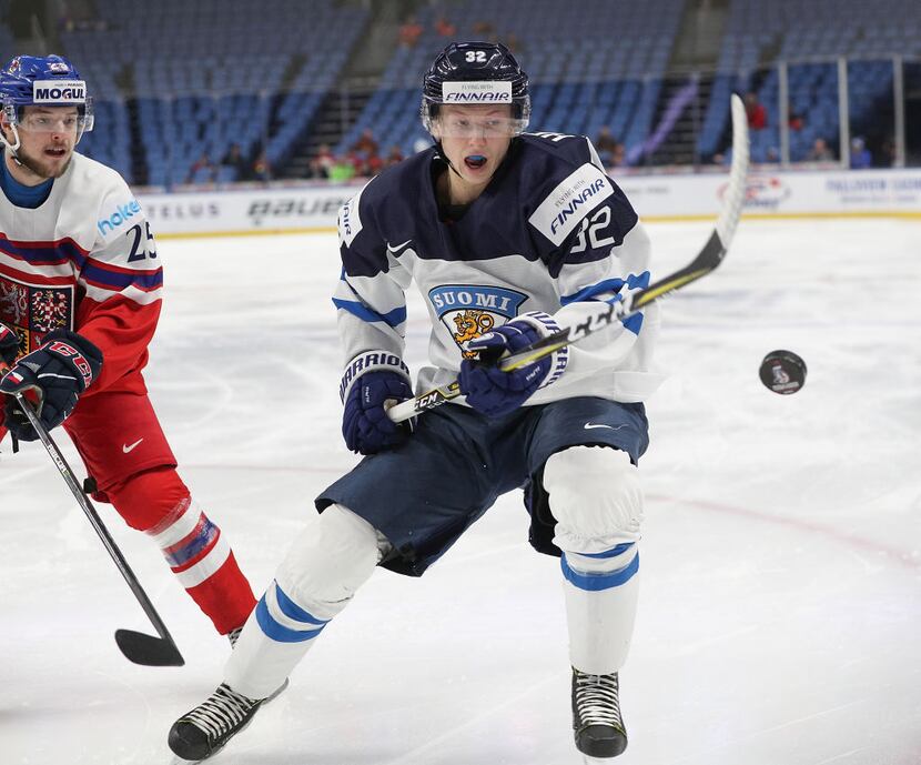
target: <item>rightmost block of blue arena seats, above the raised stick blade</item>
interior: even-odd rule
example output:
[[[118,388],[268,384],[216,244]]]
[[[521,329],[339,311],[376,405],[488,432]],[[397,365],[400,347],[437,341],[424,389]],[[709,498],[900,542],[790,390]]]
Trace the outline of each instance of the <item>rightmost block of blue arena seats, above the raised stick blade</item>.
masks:
[[[892,99],[892,57],[921,56],[921,3],[903,0],[731,0],[718,74],[701,134],[708,157],[727,141],[732,91],[757,93],[768,127],[752,134],[752,159],[773,159],[780,147],[779,81],[786,60],[790,110],[802,127],[790,132],[790,159],[806,159],[816,138],[839,149],[838,63],[847,57],[852,134],[874,130],[880,102]],[[770,62],[770,68],[765,68]]]

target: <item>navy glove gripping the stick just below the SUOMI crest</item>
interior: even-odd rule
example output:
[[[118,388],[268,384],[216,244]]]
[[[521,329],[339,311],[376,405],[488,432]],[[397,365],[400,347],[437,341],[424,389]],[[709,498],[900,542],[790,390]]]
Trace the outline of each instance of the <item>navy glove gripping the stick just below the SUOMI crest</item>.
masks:
[[[492,417],[514,412],[525,403],[547,380],[553,356],[510,372],[503,372],[497,363],[506,352],[515,353],[543,336],[535,324],[519,318],[470,340],[467,350],[478,351],[479,358],[464,359],[457,378],[467,403]]]

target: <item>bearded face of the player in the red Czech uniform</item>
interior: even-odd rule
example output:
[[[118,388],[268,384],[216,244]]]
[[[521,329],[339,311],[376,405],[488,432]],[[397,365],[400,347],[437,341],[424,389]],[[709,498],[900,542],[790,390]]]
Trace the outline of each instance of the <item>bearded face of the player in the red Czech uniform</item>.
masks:
[[[19,120],[16,154],[37,182],[59,178],[77,145],[80,115],[75,107],[26,107]],[[7,129],[9,133],[9,129]],[[28,181],[27,181],[28,182]]]

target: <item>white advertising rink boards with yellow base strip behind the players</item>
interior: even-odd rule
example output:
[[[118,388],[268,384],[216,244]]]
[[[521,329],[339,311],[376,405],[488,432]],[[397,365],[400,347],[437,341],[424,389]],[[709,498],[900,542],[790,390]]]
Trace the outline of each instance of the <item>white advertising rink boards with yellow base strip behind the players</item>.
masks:
[[[719,210],[722,172],[639,175],[613,171],[646,220],[699,220]],[[361,183],[189,189],[139,193],[160,236],[332,231]],[[921,170],[769,172],[749,177],[748,218],[904,217],[921,219]]]

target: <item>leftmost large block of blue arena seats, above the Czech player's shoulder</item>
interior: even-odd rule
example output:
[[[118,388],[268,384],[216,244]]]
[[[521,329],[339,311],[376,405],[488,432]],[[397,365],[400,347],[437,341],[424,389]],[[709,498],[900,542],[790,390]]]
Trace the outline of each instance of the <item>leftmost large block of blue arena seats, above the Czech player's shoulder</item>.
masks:
[[[61,32],[101,118],[81,150],[152,185],[236,180],[227,168],[189,177],[203,152],[216,164],[232,143],[283,161],[367,18],[334,0],[312,0],[308,13],[298,0],[95,6],[98,28]]]

